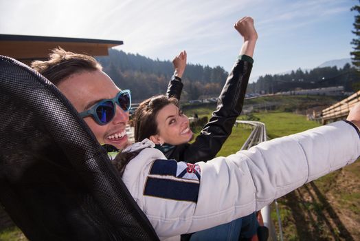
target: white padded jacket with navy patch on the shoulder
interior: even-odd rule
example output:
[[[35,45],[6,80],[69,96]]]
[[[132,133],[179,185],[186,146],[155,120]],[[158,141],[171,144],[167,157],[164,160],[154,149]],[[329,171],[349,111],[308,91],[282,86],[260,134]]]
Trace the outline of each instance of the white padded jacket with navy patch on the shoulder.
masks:
[[[144,140],[126,166],[126,187],[161,239],[247,216],[360,156],[359,130],[345,121],[276,138],[207,163],[166,160]]]

